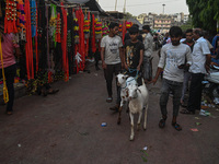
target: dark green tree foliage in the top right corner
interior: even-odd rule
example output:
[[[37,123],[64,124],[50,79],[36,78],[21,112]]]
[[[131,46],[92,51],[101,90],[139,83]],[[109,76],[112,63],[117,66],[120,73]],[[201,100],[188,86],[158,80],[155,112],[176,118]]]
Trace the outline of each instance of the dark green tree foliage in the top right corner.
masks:
[[[219,0],[186,0],[195,27],[216,33],[219,21]]]

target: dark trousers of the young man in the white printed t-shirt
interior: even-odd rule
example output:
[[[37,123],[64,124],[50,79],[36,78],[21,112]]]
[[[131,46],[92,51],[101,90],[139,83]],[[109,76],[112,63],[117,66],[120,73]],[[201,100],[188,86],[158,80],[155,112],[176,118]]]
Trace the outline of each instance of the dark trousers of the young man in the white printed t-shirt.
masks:
[[[108,96],[113,95],[112,91],[112,82],[113,82],[113,75],[117,75],[122,70],[120,63],[116,65],[107,65],[106,69],[104,69],[104,77],[106,80],[106,89],[108,92]],[[120,87],[117,85],[117,80],[116,80],[116,91],[117,91],[117,99],[116,104],[120,104]]]

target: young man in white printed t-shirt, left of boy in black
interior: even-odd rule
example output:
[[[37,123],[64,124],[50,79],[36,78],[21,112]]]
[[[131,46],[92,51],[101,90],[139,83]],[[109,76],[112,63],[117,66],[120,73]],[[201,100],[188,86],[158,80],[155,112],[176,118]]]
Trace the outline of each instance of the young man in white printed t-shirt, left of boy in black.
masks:
[[[123,65],[122,63],[123,40],[119,36],[117,36],[119,27],[117,23],[111,23],[108,27],[110,27],[110,34],[104,36],[101,40],[101,59],[108,93],[106,102],[111,103],[113,101],[113,91],[112,91],[113,75],[114,74],[117,75],[119,73]],[[120,89],[117,85],[116,87],[117,87],[116,106],[119,106]],[[116,109],[115,107],[113,108]]]

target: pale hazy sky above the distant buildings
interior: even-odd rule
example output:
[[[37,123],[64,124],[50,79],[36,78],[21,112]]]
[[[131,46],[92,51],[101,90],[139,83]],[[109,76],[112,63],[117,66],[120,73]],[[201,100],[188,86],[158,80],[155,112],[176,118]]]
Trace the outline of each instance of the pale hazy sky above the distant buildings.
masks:
[[[115,11],[116,0],[96,0],[104,11]],[[125,0],[117,0],[116,11],[123,12]],[[153,12],[157,14],[181,13],[188,14],[186,0],[126,0],[126,12],[138,16],[141,13]]]

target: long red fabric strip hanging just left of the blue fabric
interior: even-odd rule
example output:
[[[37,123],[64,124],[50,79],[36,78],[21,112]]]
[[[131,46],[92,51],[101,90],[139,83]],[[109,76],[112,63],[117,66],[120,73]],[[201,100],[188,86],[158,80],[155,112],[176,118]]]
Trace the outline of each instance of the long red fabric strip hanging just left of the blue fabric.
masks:
[[[33,65],[33,47],[32,47],[32,31],[31,31],[31,10],[30,0],[25,0],[24,12],[26,14],[26,71],[27,78],[34,79],[34,65]]]

